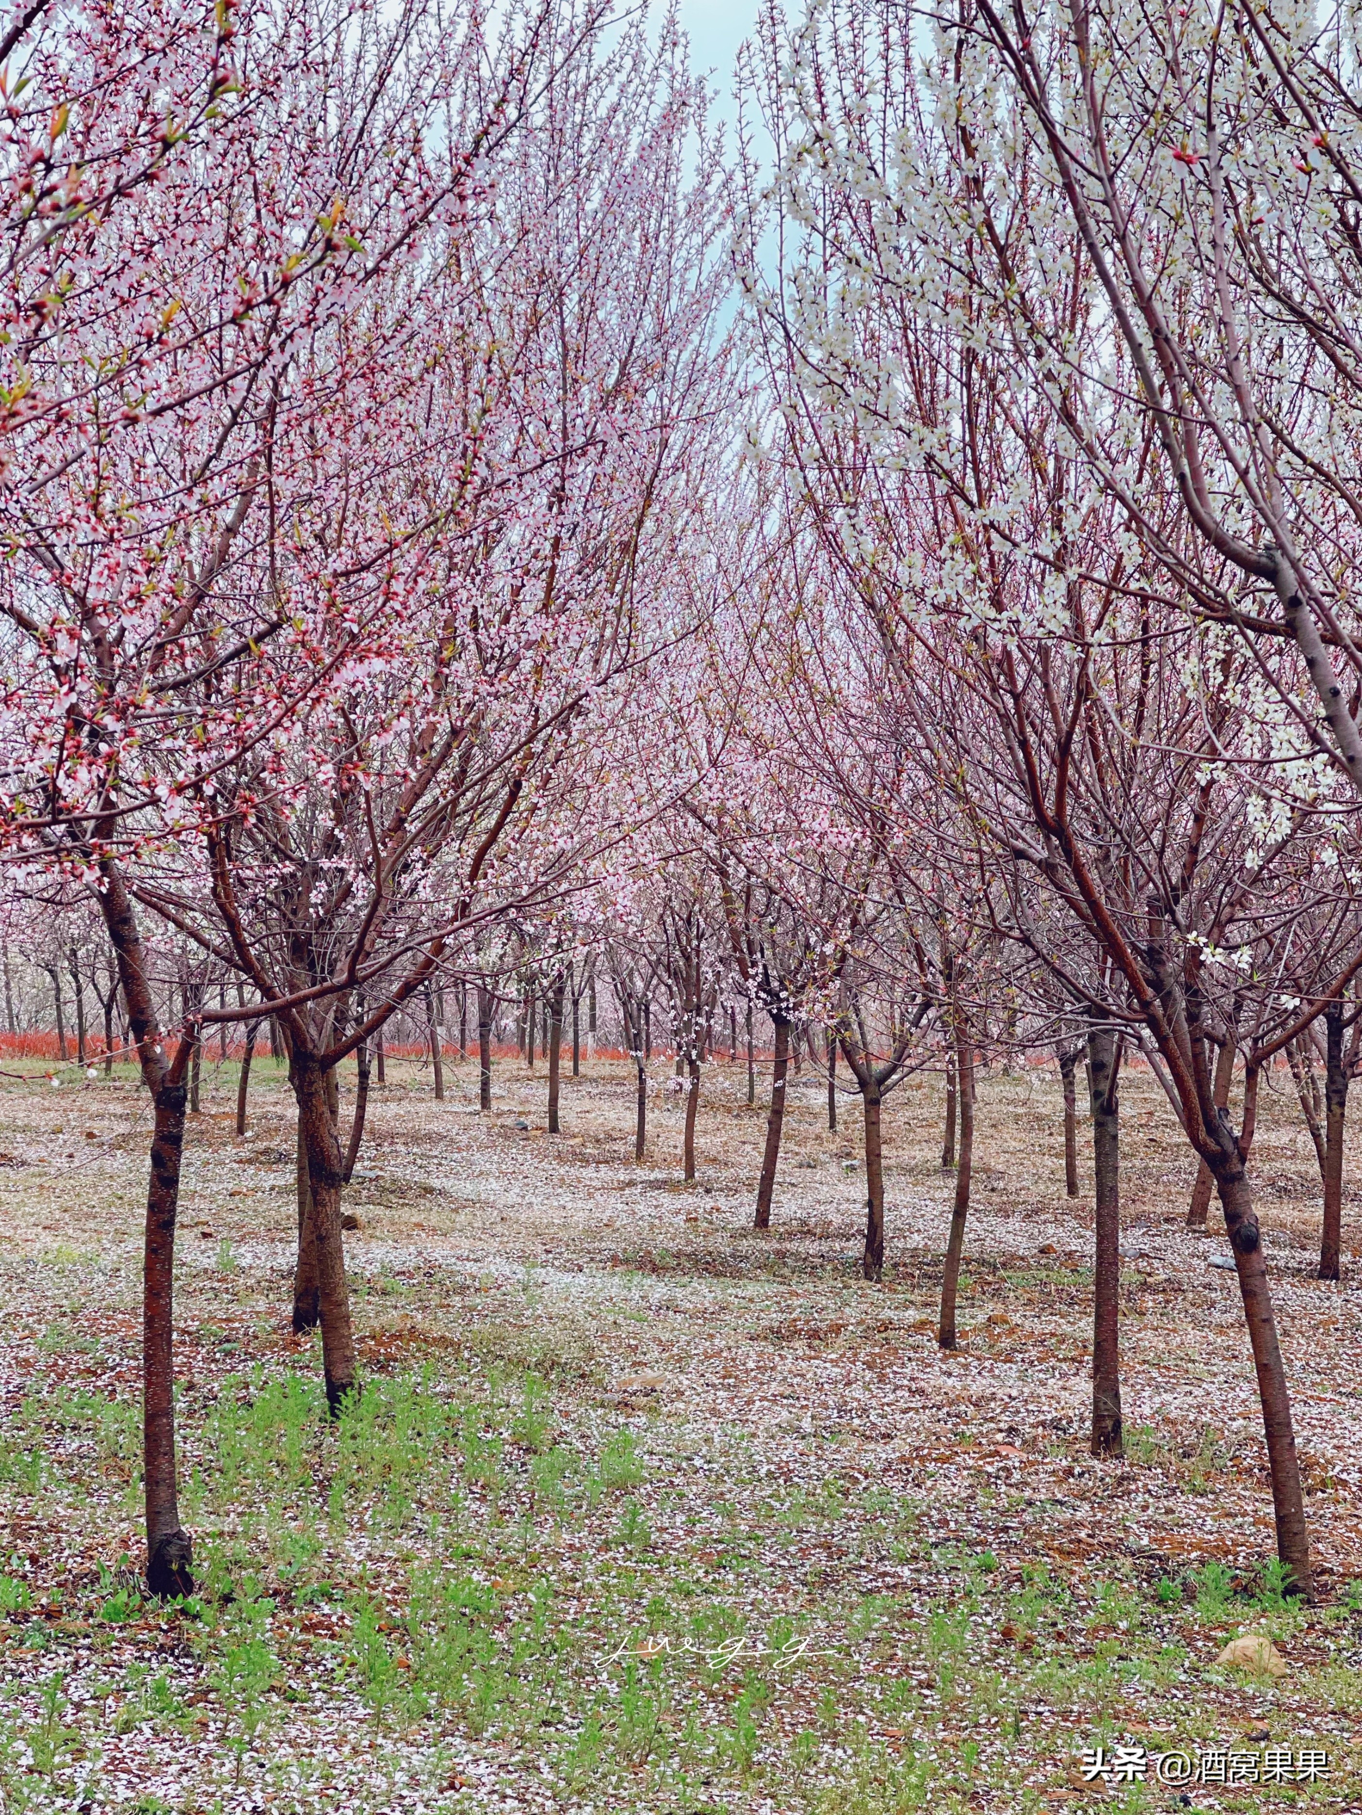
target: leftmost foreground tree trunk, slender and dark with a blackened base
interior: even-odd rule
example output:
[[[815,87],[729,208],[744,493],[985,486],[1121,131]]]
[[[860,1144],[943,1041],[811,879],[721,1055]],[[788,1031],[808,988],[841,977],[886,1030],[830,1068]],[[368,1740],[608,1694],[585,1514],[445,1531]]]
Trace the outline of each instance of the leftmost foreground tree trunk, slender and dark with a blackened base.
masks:
[[[142,1263],[142,1465],[147,1588],[169,1597],[194,1592],[189,1534],[180,1525],[174,1461],[174,1223],[180,1207],[189,1045],[182,1040],[174,1060],[165,1064],[133,904],[109,858],[100,862],[100,913],[113,942],[142,1078],[154,1105]]]

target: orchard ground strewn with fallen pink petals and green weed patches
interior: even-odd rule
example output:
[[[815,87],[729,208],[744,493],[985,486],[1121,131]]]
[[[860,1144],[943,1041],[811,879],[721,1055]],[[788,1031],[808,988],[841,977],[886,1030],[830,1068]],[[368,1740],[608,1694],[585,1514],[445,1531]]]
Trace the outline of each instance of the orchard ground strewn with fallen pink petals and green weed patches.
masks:
[[[643,1167],[627,1067],[585,1071],[548,1136],[541,1067],[498,1062],[490,1116],[472,1065],[443,1104],[390,1067],[347,1192],[365,1392],[340,1427],[287,1329],[287,1085],[256,1065],[238,1140],[234,1067],[205,1074],[178,1608],[136,1586],[145,1096],[0,1091],[7,1811],[1362,1808],[1362,1223],[1353,1192],[1344,1283],[1313,1280],[1286,1073],[1253,1171],[1313,1608],[1271,1565],[1228,1243],[1215,1211],[1182,1227],[1193,1167],[1148,1074],[1122,1087],[1128,1459],[1099,1465],[1053,1065],[982,1080],[953,1356],[941,1080],[892,1100],[866,1285],[854,1100],[832,1134],[823,1080],[792,1082],[757,1234],[741,1065],[705,1074],[694,1187],[670,1067]],[[1282,1675],[1217,1664],[1248,1632]]]

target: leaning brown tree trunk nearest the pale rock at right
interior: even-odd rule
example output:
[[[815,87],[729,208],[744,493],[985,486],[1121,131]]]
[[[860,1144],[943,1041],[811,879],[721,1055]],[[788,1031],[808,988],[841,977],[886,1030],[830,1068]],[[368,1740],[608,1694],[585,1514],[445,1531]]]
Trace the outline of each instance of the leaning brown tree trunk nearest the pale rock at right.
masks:
[[[1244,1321],[1258,1376],[1262,1428],[1268,1439],[1268,1467],[1271,1468],[1273,1510],[1277,1514],[1277,1555],[1289,1566],[1295,1592],[1309,1601],[1313,1597],[1309,1534],[1300,1492],[1297,1439],[1291,1428],[1291,1394],[1277,1341],[1277,1320],[1273,1318],[1258,1218],[1253,1209],[1248,1172],[1237,1153],[1224,1153],[1215,1167],[1215,1185],[1224,1209],[1229,1247],[1235,1252]]]

